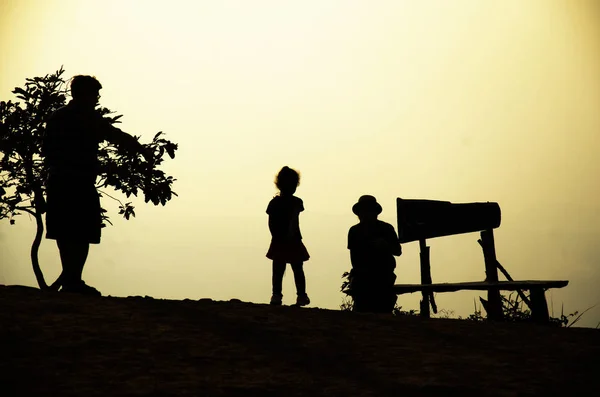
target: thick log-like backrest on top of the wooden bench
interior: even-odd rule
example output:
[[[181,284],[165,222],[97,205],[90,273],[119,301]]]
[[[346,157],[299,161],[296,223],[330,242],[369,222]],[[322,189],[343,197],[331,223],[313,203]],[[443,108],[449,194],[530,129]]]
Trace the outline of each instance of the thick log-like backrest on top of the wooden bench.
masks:
[[[498,203],[396,199],[401,243],[495,229],[500,226]]]

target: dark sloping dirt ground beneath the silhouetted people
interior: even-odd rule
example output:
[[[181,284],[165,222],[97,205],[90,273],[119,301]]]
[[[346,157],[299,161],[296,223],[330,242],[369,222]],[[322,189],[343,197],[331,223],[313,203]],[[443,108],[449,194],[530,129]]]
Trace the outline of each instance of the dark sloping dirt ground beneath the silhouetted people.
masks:
[[[600,395],[600,330],[0,286],[0,396]]]

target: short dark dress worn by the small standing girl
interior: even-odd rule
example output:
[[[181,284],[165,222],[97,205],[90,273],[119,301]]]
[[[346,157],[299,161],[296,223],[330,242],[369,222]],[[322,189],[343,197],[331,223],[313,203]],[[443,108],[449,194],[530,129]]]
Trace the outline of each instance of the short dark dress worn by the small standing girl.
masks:
[[[307,261],[310,256],[300,233],[300,212],[304,211],[302,199],[296,196],[276,196],[267,207],[271,245],[267,258],[284,263]]]

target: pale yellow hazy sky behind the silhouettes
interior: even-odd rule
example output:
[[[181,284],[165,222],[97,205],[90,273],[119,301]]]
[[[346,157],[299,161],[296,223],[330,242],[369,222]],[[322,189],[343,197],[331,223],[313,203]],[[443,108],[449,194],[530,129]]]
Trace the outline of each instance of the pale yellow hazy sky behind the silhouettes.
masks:
[[[100,79],[124,130],[180,144],[165,164],[179,197],[136,200],[137,217],[113,216],[92,247],[85,279],[104,294],[267,302],[265,209],[289,165],[313,306],[340,304],[350,208],[367,193],[394,226],[396,197],[497,201],[514,278],[570,280],[548,294],[555,314],[600,302],[594,0],[3,0],[0,12],[0,99],[64,65]],[[26,216],[0,224],[0,283],[35,285],[34,232]],[[433,280],[482,279],[477,237],[431,240]],[[418,282],[418,247],[404,252],[398,280]],[[53,241],[41,260],[58,274]],[[475,296],[436,299],[468,315]],[[600,308],[580,324],[598,321]]]

